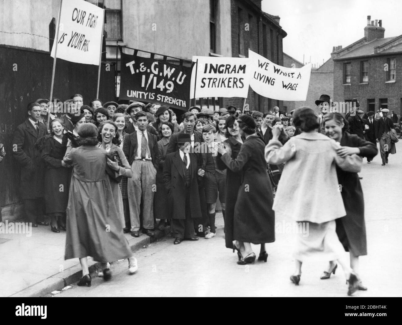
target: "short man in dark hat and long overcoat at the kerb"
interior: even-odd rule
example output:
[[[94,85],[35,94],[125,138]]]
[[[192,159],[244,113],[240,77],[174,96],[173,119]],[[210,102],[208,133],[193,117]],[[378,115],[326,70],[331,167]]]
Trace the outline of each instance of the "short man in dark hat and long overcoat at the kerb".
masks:
[[[198,240],[194,237],[193,223],[193,220],[201,218],[197,175],[204,175],[197,156],[190,153],[190,134],[179,132],[176,144],[178,150],[166,154],[163,167],[163,181],[172,204],[172,231],[176,237],[174,245],[183,240]]]

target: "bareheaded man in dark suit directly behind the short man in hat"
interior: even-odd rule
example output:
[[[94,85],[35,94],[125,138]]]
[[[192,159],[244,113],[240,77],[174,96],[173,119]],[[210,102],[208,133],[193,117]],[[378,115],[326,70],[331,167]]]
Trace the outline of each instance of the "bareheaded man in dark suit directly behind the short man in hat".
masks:
[[[184,125],[184,130],[180,131],[178,133],[172,134],[170,137],[170,141],[168,144],[168,149],[166,150],[166,154],[169,154],[171,152],[175,152],[179,149],[179,144],[178,144],[178,137],[180,134],[189,134],[190,135],[190,143],[191,143],[191,148],[190,148],[190,155],[194,155],[197,158],[197,164],[199,168],[201,168],[203,159],[202,159],[202,154],[201,154],[201,147],[202,147],[202,134],[201,132],[195,131],[194,130],[194,125],[195,125],[195,114],[192,112],[186,112],[183,114],[183,125]],[[205,237],[207,234],[207,222],[208,222],[208,214],[207,214],[207,202],[205,199],[205,192],[204,192],[204,185],[203,182],[201,181],[199,183],[199,200],[201,204],[201,219],[194,219],[194,228],[197,232],[197,236],[199,237]]]

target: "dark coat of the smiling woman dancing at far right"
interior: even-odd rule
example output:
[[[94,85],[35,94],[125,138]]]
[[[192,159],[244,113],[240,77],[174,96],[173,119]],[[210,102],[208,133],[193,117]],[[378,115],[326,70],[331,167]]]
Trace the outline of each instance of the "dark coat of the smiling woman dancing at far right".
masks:
[[[377,146],[357,135],[345,132],[340,140],[341,146],[359,147],[359,156],[373,159]],[[364,221],[364,198],[359,175],[343,171],[336,166],[338,182],[342,185],[342,199],[346,216],[336,219],[336,234],[346,251],[355,256],[367,255],[366,227]]]

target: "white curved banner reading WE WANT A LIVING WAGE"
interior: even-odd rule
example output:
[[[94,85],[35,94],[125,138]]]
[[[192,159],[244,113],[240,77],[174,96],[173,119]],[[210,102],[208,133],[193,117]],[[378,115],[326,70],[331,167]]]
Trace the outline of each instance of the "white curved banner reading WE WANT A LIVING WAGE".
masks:
[[[310,82],[311,64],[285,68],[248,50],[251,60],[250,87],[261,96],[279,101],[305,101]]]

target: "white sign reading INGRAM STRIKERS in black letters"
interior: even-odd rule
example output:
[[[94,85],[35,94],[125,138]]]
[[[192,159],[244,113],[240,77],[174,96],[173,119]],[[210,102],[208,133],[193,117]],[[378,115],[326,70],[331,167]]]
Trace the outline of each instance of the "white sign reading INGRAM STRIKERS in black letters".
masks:
[[[197,60],[191,74],[190,98],[247,97],[250,80],[248,58],[193,56],[193,62]]]

